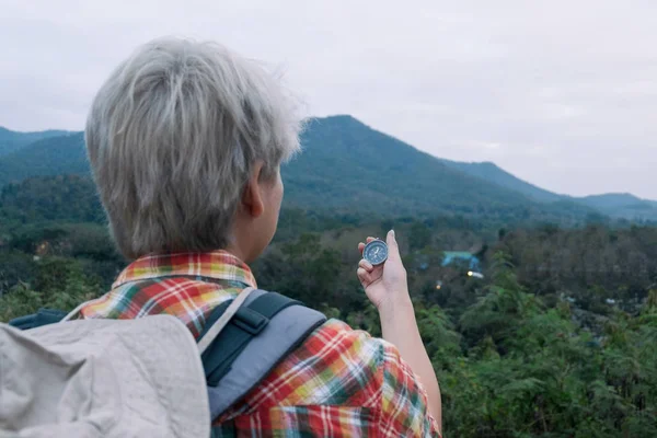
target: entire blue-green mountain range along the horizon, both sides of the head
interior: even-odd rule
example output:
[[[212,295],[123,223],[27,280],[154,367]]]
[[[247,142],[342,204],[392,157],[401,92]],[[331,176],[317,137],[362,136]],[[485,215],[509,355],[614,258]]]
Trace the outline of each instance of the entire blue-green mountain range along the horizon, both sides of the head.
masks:
[[[632,219],[636,211],[643,211],[642,218],[654,212],[657,219],[657,203],[631,195],[557,195],[494,163],[435,158],[347,115],[308,120],[301,142],[303,153],[283,169],[288,206],[371,215],[486,216],[499,221],[577,222],[595,212]],[[60,174],[89,174],[82,132],[44,135],[0,157],[0,186]]]

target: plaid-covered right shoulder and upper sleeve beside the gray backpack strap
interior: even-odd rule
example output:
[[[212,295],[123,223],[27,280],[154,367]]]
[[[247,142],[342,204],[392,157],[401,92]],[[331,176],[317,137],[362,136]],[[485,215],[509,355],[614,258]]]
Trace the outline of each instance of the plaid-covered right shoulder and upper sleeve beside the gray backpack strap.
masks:
[[[338,320],[315,328],[221,420],[279,406],[287,406],[288,414],[293,406],[357,408],[372,415],[387,436],[410,430],[439,436],[426,393],[396,347]]]

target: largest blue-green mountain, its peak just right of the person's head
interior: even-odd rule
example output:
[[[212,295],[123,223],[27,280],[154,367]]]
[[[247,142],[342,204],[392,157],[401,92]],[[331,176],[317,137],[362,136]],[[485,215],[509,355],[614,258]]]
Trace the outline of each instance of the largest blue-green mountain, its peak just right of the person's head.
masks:
[[[500,220],[577,220],[591,209],[530,199],[447,165],[350,116],[315,118],[284,168],[290,204],[372,214],[451,212]]]

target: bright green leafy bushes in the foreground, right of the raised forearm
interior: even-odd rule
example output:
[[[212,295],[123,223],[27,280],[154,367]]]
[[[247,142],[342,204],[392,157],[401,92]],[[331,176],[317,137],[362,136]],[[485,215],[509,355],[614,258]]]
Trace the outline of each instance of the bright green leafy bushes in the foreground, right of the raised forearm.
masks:
[[[508,267],[488,293],[462,319],[466,335],[477,328],[475,346],[438,371],[450,435],[655,436],[652,328],[618,314],[597,344],[566,312],[540,306]],[[477,311],[481,327],[472,321]]]

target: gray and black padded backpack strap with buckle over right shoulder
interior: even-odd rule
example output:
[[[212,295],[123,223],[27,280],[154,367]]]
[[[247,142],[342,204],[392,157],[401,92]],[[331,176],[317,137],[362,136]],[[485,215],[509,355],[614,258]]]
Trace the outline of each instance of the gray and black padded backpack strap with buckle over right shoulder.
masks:
[[[206,326],[231,304],[215,309]],[[201,354],[211,417],[246,395],[325,321],[324,314],[280,293],[253,291]],[[200,336],[199,343],[206,332]]]

